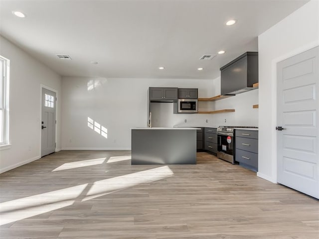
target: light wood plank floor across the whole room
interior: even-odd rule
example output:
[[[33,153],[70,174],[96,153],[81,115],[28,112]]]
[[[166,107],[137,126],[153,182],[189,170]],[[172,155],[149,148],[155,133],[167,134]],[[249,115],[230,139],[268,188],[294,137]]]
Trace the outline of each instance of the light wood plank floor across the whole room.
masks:
[[[0,175],[0,238],[318,239],[319,200],[200,152],[60,151]]]

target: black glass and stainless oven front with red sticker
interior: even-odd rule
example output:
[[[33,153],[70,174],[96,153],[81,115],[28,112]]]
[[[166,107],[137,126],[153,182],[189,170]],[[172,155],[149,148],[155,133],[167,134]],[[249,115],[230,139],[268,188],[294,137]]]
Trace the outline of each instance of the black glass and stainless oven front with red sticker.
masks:
[[[229,132],[217,132],[217,138],[217,157],[235,163],[234,134]]]

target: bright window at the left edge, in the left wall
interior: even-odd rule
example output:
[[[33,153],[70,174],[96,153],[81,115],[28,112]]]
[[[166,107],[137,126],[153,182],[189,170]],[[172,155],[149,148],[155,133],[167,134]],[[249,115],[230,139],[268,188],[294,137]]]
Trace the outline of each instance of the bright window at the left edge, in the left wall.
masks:
[[[0,146],[9,143],[9,60],[0,56]]]

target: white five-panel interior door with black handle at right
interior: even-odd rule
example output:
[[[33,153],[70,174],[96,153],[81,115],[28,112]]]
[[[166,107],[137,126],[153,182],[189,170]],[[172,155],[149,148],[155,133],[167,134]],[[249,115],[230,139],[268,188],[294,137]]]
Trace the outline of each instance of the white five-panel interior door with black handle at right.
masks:
[[[319,47],[277,64],[278,183],[319,198]]]

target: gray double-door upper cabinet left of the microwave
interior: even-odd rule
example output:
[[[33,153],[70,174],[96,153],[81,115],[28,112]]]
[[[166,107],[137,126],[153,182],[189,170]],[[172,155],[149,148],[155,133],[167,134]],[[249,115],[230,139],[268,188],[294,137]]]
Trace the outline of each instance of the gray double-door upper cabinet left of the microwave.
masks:
[[[174,102],[177,101],[177,88],[175,87],[150,87],[151,102]]]

